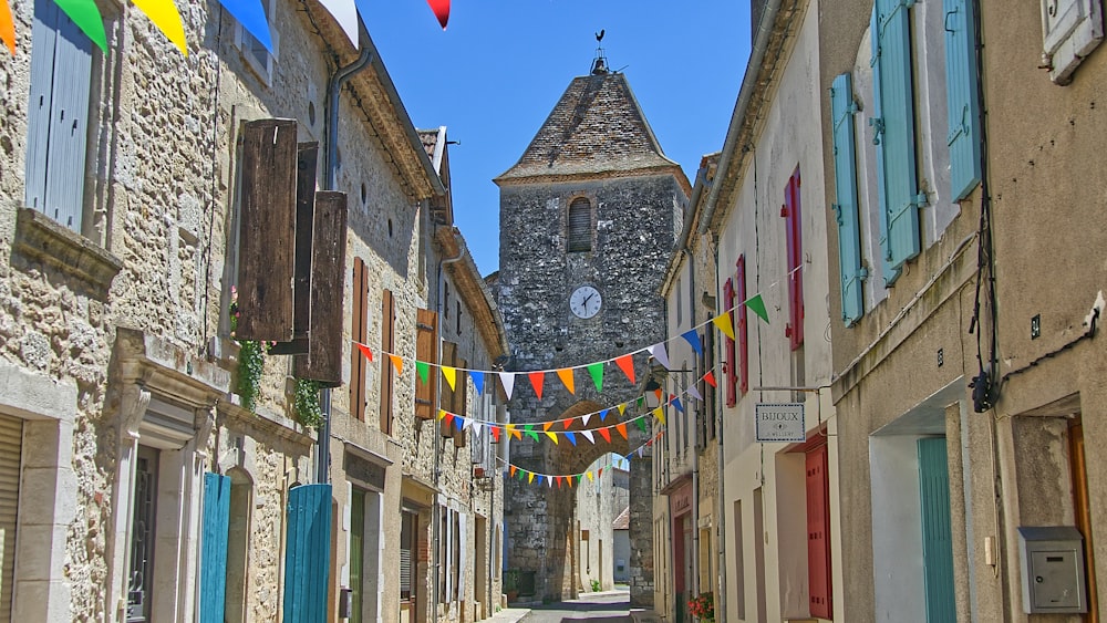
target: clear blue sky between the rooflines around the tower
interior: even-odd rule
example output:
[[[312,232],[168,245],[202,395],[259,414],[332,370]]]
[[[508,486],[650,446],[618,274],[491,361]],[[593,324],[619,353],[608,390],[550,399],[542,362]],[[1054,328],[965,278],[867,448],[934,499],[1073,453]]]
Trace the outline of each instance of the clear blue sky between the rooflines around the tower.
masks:
[[[723,146],[749,56],[749,4],[734,0],[455,0],[443,31],[424,0],[359,2],[418,128],[445,125],[454,217],[483,274],[499,266],[499,189],[594,33],[622,70],[665,155],[694,180]]]

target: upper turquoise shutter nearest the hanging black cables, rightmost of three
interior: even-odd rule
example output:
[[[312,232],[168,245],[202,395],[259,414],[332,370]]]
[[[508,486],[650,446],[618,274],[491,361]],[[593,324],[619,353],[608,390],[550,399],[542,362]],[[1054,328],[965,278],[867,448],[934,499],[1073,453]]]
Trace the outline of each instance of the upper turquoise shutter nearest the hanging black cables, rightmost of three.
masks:
[[[950,108],[950,193],[961,200],[980,184],[980,93],[971,0],[944,0],[945,93]]]

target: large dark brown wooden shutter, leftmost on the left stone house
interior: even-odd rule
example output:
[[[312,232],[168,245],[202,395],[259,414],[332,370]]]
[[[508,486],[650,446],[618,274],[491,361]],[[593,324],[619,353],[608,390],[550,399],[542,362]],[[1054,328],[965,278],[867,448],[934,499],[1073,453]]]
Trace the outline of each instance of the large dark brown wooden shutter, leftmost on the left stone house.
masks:
[[[296,122],[242,124],[238,248],[239,340],[292,339]]]

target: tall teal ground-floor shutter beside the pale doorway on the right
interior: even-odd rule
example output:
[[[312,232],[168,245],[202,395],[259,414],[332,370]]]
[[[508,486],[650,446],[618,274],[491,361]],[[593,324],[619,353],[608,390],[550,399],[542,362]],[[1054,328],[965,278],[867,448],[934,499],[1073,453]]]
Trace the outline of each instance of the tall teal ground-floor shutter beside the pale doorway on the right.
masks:
[[[956,623],[945,437],[919,439],[918,448],[927,623]]]

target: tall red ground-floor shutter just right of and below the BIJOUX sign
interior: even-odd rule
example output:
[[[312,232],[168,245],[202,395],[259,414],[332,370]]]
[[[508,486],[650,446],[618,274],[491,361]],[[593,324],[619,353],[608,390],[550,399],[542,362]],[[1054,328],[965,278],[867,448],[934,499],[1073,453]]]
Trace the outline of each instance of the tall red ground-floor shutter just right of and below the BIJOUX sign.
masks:
[[[830,508],[826,444],[807,453],[807,580],[811,616],[830,619]]]

